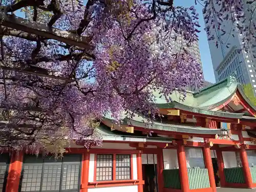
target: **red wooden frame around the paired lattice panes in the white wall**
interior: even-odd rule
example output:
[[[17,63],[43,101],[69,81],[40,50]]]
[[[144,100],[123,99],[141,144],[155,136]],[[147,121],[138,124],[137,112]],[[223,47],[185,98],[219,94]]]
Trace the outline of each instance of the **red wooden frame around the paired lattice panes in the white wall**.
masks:
[[[97,155],[113,155],[113,168],[112,168],[112,180],[102,180],[97,181],[96,180],[96,174],[97,174]],[[116,178],[116,156],[117,155],[130,155],[130,179],[117,179]],[[94,179],[93,181],[96,183],[109,183],[109,182],[128,182],[133,181],[133,154],[131,153],[95,153],[94,154]]]

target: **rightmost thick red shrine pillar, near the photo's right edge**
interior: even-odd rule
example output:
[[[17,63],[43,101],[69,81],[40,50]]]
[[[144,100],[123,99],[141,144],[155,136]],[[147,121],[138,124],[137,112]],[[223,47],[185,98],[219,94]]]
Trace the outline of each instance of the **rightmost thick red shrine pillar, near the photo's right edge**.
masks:
[[[245,145],[241,146],[240,158],[241,158],[242,165],[243,165],[245,183],[246,183],[248,188],[252,188],[252,178],[251,178],[250,167],[249,167],[247,154],[246,154],[246,150],[245,150]]]

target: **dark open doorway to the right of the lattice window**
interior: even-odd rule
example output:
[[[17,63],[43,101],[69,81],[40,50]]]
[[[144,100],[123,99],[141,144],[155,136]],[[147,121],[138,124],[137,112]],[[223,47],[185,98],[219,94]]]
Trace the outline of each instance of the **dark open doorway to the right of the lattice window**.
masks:
[[[156,164],[142,164],[143,192],[157,192]]]

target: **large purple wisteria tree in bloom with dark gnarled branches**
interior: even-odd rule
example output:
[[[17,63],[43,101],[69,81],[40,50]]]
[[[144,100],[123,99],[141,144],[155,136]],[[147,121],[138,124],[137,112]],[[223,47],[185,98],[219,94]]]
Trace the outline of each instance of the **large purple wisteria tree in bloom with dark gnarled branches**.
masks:
[[[61,154],[73,140],[97,145],[95,120],[105,113],[117,121],[122,111],[154,118],[154,91],[170,101],[174,90],[200,87],[200,64],[187,51],[200,32],[197,3],[212,40],[222,19],[250,19],[242,0],[196,0],[188,8],[173,0],[2,0],[2,150]],[[254,27],[239,30],[255,39]],[[186,46],[174,51],[177,37]]]

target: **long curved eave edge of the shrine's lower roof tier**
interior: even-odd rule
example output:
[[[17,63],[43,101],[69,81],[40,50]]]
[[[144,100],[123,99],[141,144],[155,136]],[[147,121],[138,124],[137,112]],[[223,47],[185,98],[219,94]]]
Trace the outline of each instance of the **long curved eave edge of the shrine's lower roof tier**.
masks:
[[[112,119],[104,118],[105,120],[111,121],[114,123]],[[189,126],[189,125],[174,125],[174,124],[167,124],[167,123],[159,123],[153,121],[152,123],[144,123],[141,121],[136,120],[128,120],[123,119],[122,125],[127,126],[135,126],[135,127],[142,127],[144,129],[151,129],[151,130],[159,130],[159,131],[167,131],[167,132],[179,132],[179,133],[190,133],[190,134],[199,134],[199,135],[216,135],[222,134],[222,129],[209,129],[206,127],[199,127],[199,126]]]

